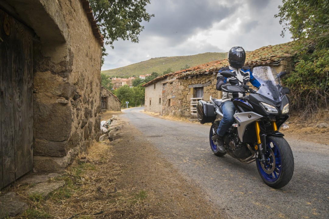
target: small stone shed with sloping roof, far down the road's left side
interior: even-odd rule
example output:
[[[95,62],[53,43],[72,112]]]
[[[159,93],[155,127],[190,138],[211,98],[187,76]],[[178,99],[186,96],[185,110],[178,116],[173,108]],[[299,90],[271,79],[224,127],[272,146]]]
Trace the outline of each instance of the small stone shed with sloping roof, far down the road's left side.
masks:
[[[105,112],[107,110],[121,111],[120,100],[110,91],[105,89],[103,86],[101,88],[101,111]]]

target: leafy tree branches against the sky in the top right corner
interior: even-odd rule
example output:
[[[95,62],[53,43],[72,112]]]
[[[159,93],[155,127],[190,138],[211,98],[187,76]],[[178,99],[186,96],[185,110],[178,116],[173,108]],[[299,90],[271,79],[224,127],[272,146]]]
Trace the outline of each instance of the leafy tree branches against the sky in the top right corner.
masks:
[[[283,0],[279,13],[281,35],[289,30],[293,39],[312,41],[318,48],[329,45],[329,0]]]

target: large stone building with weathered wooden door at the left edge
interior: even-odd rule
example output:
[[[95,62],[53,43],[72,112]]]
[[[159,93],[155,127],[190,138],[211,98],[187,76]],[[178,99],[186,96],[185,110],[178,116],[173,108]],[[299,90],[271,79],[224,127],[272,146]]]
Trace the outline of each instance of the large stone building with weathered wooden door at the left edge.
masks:
[[[0,188],[98,139],[102,45],[88,0],[0,1]]]

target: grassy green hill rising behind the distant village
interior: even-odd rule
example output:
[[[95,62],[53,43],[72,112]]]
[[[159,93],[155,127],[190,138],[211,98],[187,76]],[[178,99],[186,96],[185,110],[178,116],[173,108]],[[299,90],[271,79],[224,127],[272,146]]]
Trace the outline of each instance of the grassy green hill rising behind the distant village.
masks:
[[[179,71],[207,62],[222,60],[227,58],[227,53],[202,53],[198,55],[172,56],[151,58],[121,68],[101,71],[109,77],[130,77],[151,74],[156,72],[162,75],[164,71],[171,69],[171,72]]]

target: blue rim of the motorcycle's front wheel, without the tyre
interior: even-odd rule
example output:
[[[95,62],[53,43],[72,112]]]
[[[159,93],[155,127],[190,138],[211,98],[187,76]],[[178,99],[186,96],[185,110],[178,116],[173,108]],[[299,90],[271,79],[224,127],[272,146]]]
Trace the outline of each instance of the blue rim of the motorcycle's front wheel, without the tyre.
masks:
[[[262,168],[262,166],[264,164],[261,163],[259,160],[257,160],[257,164],[259,166],[259,170],[260,170],[262,176],[264,177],[264,179],[266,179],[269,182],[274,182],[281,175],[281,167],[282,167],[281,154],[280,154],[279,148],[275,142],[273,142],[272,140],[268,140],[268,141],[266,141],[266,143],[267,143],[267,147],[271,148],[271,150],[274,153],[275,167],[273,169],[273,172],[270,174],[266,173],[265,170]],[[271,143],[272,143],[272,145],[271,145]],[[273,159],[270,151],[268,151],[268,150],[266,151],[265,157],[269,160]],[[264,165],[264,167],[266,169],[271,169],[273,166],[271,164],[269,164],[269,165]]]

